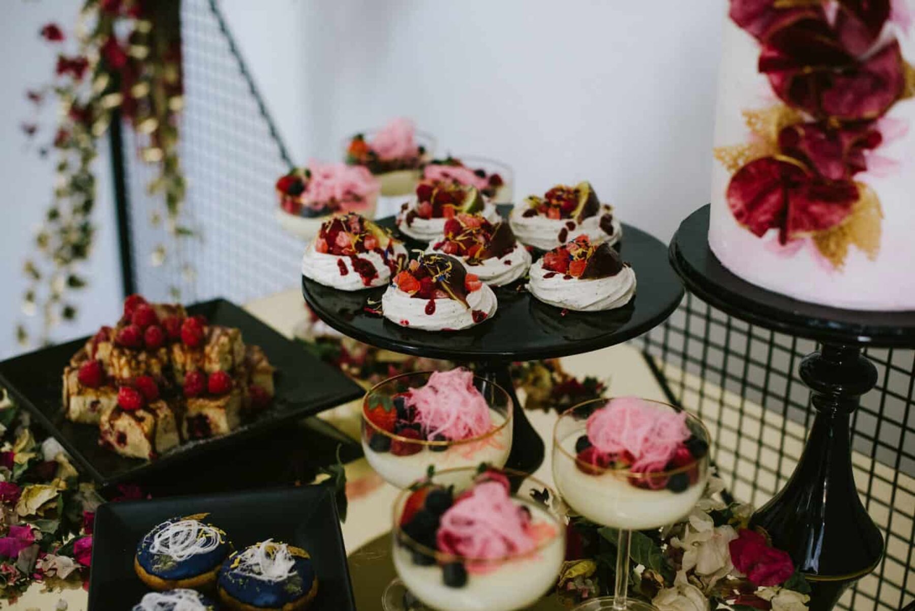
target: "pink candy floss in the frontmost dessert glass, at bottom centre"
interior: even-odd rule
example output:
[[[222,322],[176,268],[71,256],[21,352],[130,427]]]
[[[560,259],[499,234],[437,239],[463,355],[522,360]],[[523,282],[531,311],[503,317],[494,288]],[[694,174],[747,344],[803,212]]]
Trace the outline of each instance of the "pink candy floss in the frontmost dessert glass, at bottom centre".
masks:
[[[504,558],[531,552],[537,537],[530,516],[498,481],[471,488],[442,514],[438,549],[466,558]]]

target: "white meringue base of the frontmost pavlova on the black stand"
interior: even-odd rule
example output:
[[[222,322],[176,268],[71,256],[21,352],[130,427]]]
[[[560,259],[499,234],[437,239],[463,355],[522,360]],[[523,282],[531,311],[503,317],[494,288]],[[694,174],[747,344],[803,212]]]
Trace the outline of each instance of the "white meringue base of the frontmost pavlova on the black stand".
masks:
[[[498,307],[496,295],[486,284],[469,293],[467,303],[465,306],[456,299],[412,297],[392,284],[382,295],[382,314],[401,327],[425,331],[457,331],[490,318]]]

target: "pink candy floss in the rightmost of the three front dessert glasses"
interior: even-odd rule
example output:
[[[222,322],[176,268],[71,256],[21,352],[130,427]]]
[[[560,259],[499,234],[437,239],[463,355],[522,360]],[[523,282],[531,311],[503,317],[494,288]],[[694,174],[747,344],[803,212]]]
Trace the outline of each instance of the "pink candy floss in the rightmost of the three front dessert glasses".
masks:
[[[636,397],[619,397],[587,419],[587,438],[605,454],[629,453],[635,472],[662,471],[690,436],[686,413],[654,407]]]

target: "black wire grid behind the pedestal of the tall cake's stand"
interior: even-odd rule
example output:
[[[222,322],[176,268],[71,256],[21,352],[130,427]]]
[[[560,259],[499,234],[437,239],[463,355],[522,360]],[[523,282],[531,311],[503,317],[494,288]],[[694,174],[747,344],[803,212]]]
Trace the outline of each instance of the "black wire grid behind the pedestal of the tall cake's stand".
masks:
[[[686,295],[639,342],[673,399],[701,415],[734,495],[759,507],[791,476],[813,422],[798,376],[811,340],[753,327]],[[899,609],[915,598],[915,351],[867,349],[877,387],[852,421],[855,480],[887,551],[845,593],[846,609]]]

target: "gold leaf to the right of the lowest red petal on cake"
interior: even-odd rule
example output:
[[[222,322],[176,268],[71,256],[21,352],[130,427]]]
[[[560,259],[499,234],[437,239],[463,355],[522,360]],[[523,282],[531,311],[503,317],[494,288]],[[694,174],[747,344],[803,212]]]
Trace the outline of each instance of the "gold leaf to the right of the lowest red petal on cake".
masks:
[[[883,209],[874,189],[862,182],[855,183],[860,194],[851,214],[832,229],[813,235],[817,250],[833,264],[836,270],[845,265],[848,248],[856,246],[871,261],[880,252],[880,221]]]

